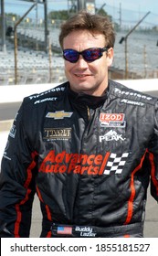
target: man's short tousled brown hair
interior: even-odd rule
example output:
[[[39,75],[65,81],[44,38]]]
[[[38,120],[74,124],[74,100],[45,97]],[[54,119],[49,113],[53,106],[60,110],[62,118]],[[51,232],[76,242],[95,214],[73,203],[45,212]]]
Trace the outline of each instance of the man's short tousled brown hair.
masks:
[[[92,15],[86,11],[80,11],[61,25],[61,31],[58,37],[61,48],[63,48],[64,38],[67,37],[69,33],[80,29],[89,30],[91,34],[96,32],[103,34],[106,47],[114,47],[115,33],[108,16]]]

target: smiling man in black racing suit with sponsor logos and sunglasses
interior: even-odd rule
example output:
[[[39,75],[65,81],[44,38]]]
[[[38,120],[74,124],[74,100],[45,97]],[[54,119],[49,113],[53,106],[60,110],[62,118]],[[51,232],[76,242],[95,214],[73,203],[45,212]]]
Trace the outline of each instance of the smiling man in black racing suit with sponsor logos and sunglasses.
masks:
[[[157,99],[108,80],[114,32],[80,12],[61,27],[68,82],[26,97],[0,176],[2,237],[28,237],[34,194],[41,237],[142,237],[158,200]]]

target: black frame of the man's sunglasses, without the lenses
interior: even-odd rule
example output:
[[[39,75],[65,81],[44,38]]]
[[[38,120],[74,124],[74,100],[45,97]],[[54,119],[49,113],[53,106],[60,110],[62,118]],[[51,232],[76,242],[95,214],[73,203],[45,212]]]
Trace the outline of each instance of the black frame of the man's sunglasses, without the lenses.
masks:
[[[92,50],[95,50],[95,49],[99,50],[99,56],[98,56],[98,58],[96,58],[96,59],[100,59],[100,58],[102,57],[102,53],[103,53],[104,51],[108,51],[109,48],[106,48],[106,47],[105,47],[105,48],[86,48],[86,49],[84,49],[84,50],[82,50],[82,51],[78,51],[78,50],[72,49],[72,48],[66,48],[66,49],[63,49],[63,58],[66,59],[67,61],[71,62],[71,63],[76,63],[76,62],[78,62],[78,60],[79,60],[79,55],[81,55],[82,58],[83,58],[84,60],[86,60],[87,62],[93,62],[93,61],[95,61],[96,59],[86,59],[85,56],[84,56],[84,53],[86,53],[86,51],[90,51],[90,50],[92,51]],[[69,59],[66,58],[65,52],[68,51],[68,50],[72,50],[72,51],[74,51],[76,54],[78,54],[76,60],[69,60]]]

